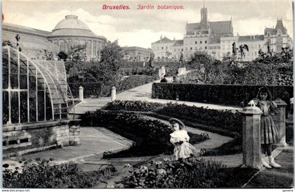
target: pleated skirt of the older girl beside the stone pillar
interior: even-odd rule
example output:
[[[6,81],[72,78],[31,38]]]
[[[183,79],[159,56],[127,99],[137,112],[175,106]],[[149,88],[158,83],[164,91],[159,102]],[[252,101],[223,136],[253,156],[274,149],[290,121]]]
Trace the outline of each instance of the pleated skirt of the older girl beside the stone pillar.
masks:
[[[270,116],[261,116],[261,144],[273,144],[279,141],[279,134]]]

